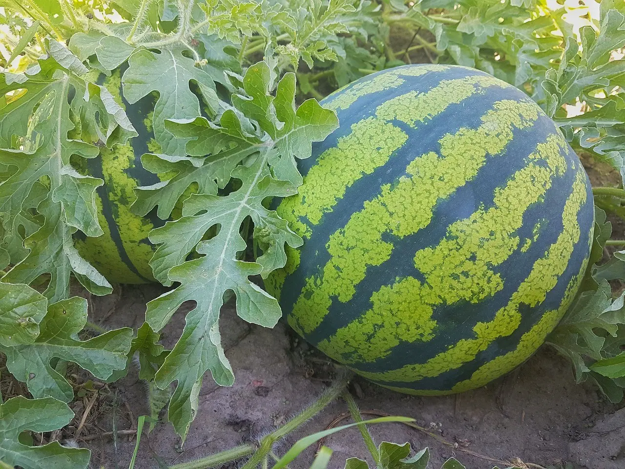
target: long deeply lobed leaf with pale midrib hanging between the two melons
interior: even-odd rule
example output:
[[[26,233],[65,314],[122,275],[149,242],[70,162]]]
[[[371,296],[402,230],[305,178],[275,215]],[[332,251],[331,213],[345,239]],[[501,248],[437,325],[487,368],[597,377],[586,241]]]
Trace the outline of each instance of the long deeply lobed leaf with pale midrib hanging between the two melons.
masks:
[[[295,110],[293,74],[286,74],[277,84],[276,96],[271,94],[274,79],[269,65],[258,63],[248,69],[244,78],[247,97],[232,97],[236,109],[257,123],[255,134],[244,130],[245,125],[232,109],[221,116],[220,126],[205,118],[172,121],[167,126],[176,136],[189,139],[187,153],[209,155],[205,165],[217,158],[228,160],[226,167],[244,161],[231,170],[232,178],[241,181],[240,188],[227,196],[190,196],[184,201],[182,218],[154,229],[150,236],[159,245],[151,261],[154,275],[165,285],[179,282],[180,286],[148,303],[149,325],[159,331],[184,301],[197,303],[187,315],[183,335],[156,373],[161,388],[178,380],[169,405],[169,420],[183,438],[192,419],[189,402],[204,373],[211,370],[221,385],[231,385],[234,380],[219,339],[219,308],[224,293],[234,291],[237,313],[248,322],[272,327],[281,316],[276,299],[249,280],[249,276],[284,266],[284,243],[301,245],[301,239],[286,222],[262,205],[269,197],[295,193],[301,176],[296,173],[295,181],[276,179],[271,164],[286,162],[294,166],[294,156],[310,156],[311,142],[324,139],[337,126],[336,115],[314,100]],[[268,255],[256,262],[237,260],[237,253],[246,248],[239,232],[247,217],[255,227],[266,228]],[[217,225],[217,235],[202,240]],[[193,250],[200,257],[185,262]],[[194,367],[180,366],[181,361],[193,363]]]

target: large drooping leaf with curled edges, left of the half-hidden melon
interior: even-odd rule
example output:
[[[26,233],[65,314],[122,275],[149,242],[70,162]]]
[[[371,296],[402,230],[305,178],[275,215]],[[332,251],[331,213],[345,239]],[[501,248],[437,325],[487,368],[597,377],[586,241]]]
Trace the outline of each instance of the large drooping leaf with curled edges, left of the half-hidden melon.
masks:
[[[27,90],[0,109],[0,147],[6,148],[0,149],[0,158],[9,170],[0,182],[6,243],[21,240],[19,225],[34,186],[47,188],[36,205],[44,220],[29,230],[25,249],[13,250],[19,257],[12,256],[14,267],[2,280],[31,283],[49,274],[44,295],[55,302],[68,298],[71,272],[96,295],[111,291],[108,281],[78,255],[72,240],[78,230],[86,236],[103,234],[95,202],[103,181],[80,174],[70,160],[95,158],[99,149],[94,143],[103,141],[111,148],[136,132],[106,90],[79,78],[77,73],[87,68],[76,56],[56,41],[47,45],[49,54],[24,74],[0,74],[0,94]],[[83,119],[75,124],[73,116]],[[39,184],[41,178],[49,183]]]

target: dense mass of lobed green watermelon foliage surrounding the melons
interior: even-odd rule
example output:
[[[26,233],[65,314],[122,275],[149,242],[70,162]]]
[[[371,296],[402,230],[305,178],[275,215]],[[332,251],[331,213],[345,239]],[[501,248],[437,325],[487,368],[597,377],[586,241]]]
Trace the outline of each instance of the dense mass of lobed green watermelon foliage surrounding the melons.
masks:
[[[269,201],[297,193],[297,159],[339,124],[318,100],[417,54],[513,84],[584,161],[620,175],[618,187],[594,188],[589,268],[547,343],[571,360],[577,381],[592,380],[621,401],[625,296],[617,282],[625,281],[625,251],[609,260],[604,251],[625,245],[610,239],[607,218],[625,218],[624,30],[617,0],[562,8],[547,0],[7,0],[0,8],[0,353],[2,372],[26,383],[34,399],[8,400],[0,417],[23,409],[24,429],[66,425],[73,390],[64,360],[113,381],[138,355],[141,378],[161,400],[164,392],[161,406],[168,403],[168,421],[184,440],[206,372],[219,385],[234,380],[219,335],[224,301],[234,293],[249,323],[272,327],[281,317],[276,298],[252,279],[283,268],[285,246],[302,243]],[[397,48],[392,31],[411,40]],[[119,211],[106,218],[103,194],[114,177],[102,161],[122,151],[136,156],[144,179],[134,187],[118,181]],[[145,236],[113,239],[106,225],[122,219],[132,229],[139,219],[151,224],[139,223]],[[103,246],[107,236],[128,251],[119,263],[131,264],[131,250],[147,256],[129,278],[171,290],[148,303],[136,333],[79,340],[88,301],[71,286],[74,279],[92,295],[113,291],[101,268],[107,260],[90,262],[85,247]],[[164,350],[159,333],[186,301],[196,306],[173,350]],[[34,412],[56,418],[37,426]],[[9,449],[0,445],[0,460],[18,454],[10,464],[41,467],[37,460],[63,454],[72,467],[86,465],[83,450],[53,443],[27,461],[13,429],[0,425],[0,435],[11,441]]]

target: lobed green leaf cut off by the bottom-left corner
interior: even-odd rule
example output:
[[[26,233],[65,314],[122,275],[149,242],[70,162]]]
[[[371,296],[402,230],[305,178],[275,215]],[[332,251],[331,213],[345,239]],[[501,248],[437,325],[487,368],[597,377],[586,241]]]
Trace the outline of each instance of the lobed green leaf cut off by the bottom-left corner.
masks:
[[[65,448],[58,441],[43,446],[24,445],[22,431],[53,431],[74,418],[64,402],[51,397],[27,399],[17,396],[0,404],[0,461],[24,469],[86,469],[91,451]]]

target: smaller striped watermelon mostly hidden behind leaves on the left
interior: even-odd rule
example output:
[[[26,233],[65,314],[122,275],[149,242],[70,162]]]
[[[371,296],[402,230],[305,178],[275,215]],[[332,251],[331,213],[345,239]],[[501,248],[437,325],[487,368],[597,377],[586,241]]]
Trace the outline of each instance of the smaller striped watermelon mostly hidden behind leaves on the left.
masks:
[[[121,98],[119,70],[106,79],[100,76],[98,83],[106,86],[126,109],[139,136],[124,146],[113,149],[103,147],[99,158],[88,160],[86,171],[104,179],[104,185],[98,188],[96,198],[98,219],[104,235],[98,238],[77,237],[76,248],[111,282],[153,282],[155,280],[149,260],[154,254],[154,248],[148,240],[148,233],[156,226],[163,225],[164,221],[153,213],[146,217],[138,216],[131,212],[130,206],[136,199],[134,188],[149,186],[160,180],[141,165],[142,154],[159,153],[151,123],[154,102],[151,96],[147,96],[129,105]],[[77,236],[81,236],[80,231]]]

